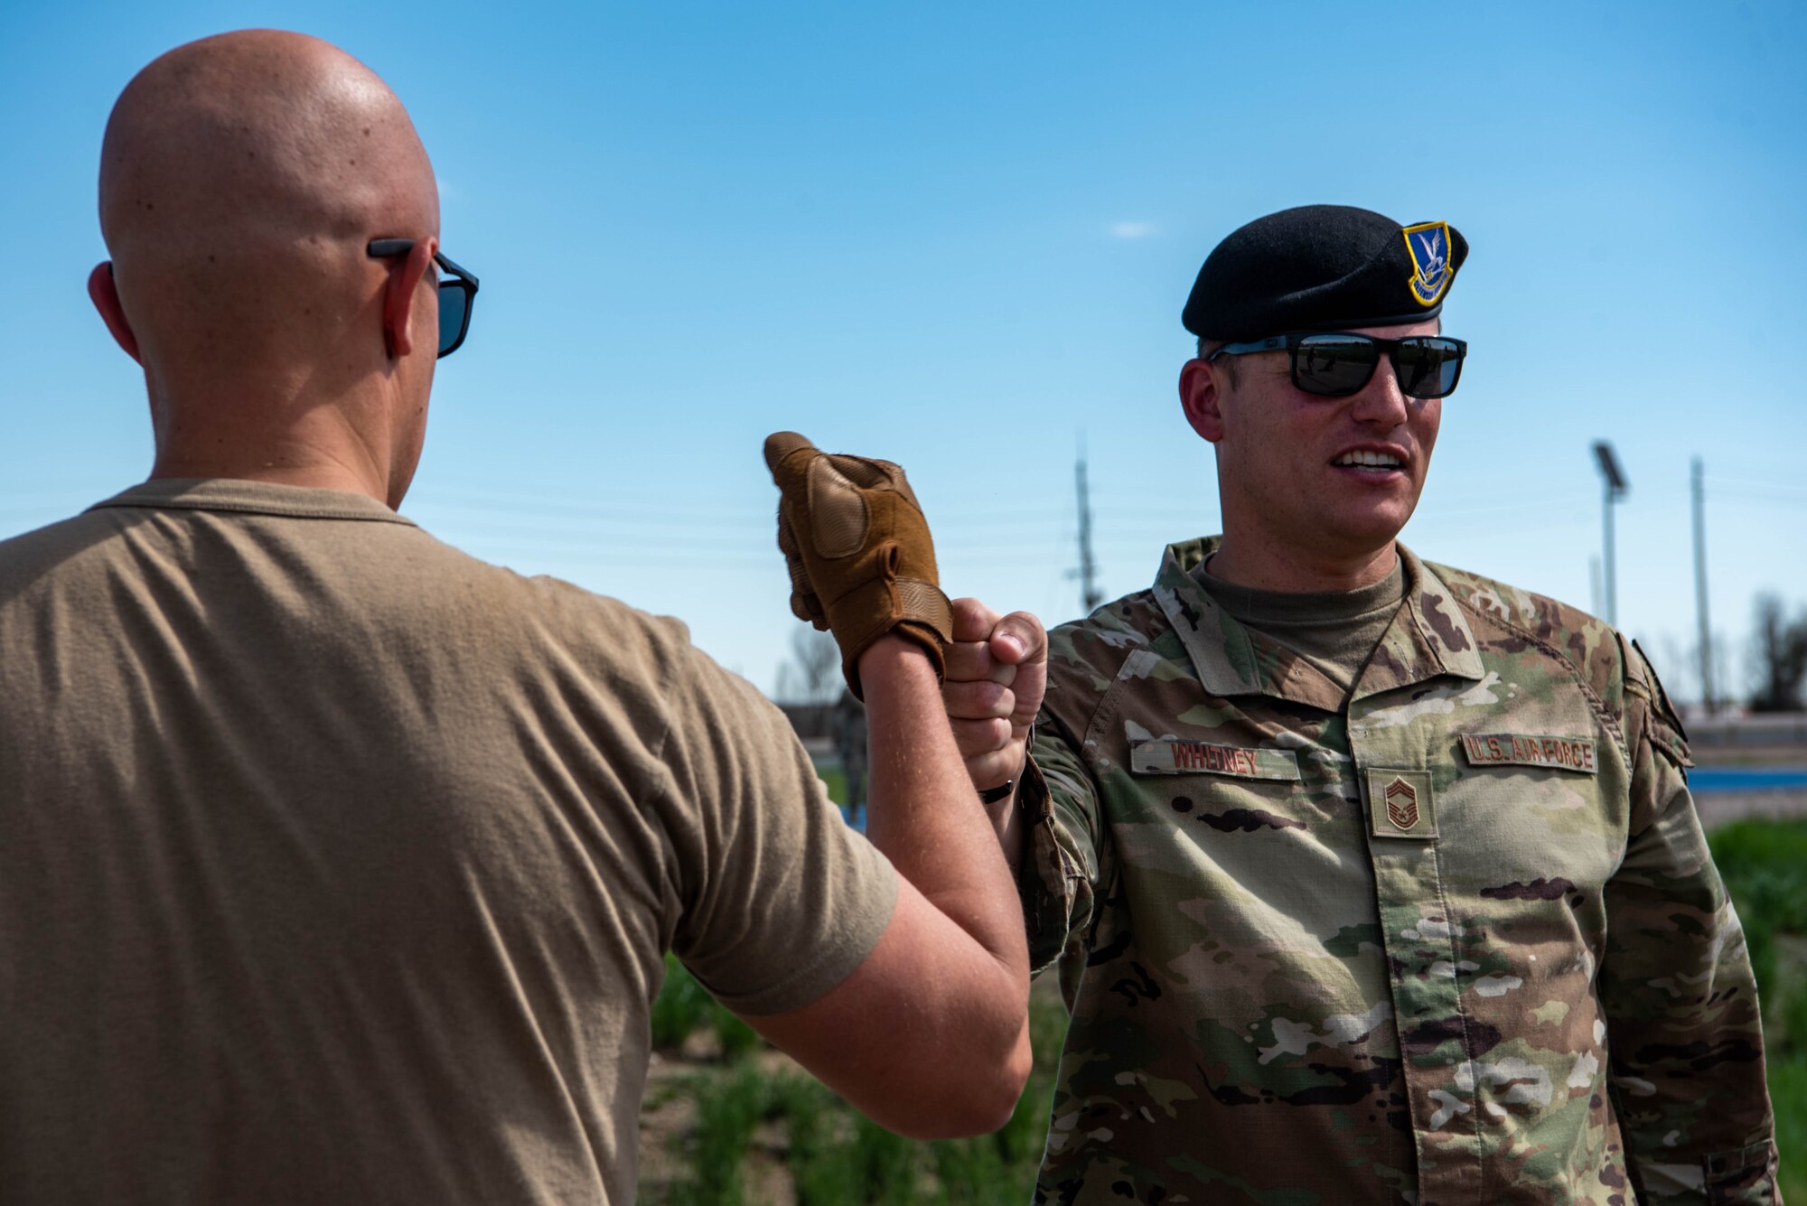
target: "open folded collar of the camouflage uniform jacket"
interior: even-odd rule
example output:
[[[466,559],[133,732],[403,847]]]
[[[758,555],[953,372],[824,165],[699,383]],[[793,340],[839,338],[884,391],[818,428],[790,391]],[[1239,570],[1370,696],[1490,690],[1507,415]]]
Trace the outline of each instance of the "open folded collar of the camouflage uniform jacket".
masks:
[[[1306,659],[1236,621],[1211,598],[1193,571],[1216,552],[1222,536],[1167,545],[1155,574],[1155,601],[1185,646],[1198,681],[1218,697],[1274,695],[1343,711],[1348,693]],[[1406,571],[1406,599],[1355,684],[1353,699],[1391,691],[1440,675],[1480,679],[1475,634],[1455,596],[1406,545],[1395,545]]]

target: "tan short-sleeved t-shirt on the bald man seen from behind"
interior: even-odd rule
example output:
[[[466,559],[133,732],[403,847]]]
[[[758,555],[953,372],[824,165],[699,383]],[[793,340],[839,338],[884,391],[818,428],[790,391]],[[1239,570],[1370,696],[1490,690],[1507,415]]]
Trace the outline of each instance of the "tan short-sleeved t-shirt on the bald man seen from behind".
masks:
[[[632,1201],[661,951],[777,1013],[894,901],[683,625],[370,498],[0,543],[0,1201]]]

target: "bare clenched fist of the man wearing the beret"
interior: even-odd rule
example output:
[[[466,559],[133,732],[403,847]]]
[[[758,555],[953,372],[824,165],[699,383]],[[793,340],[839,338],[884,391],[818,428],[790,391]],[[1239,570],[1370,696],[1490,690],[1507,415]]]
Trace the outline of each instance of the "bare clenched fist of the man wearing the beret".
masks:
[[[941,702],[974,787],[997,787],[1023,771],[1028,729],[1046,690],[1048,632],[1039,619],[954,599]]]

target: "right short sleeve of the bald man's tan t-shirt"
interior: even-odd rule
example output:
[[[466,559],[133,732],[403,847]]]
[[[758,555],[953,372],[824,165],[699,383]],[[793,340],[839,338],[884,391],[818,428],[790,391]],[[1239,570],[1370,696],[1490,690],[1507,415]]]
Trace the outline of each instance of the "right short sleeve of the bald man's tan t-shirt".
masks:
[[[891,923],[896,872],[842,820],[784,713],[688,650],[661,756],[678,959],[744,1015],[840,984]]]

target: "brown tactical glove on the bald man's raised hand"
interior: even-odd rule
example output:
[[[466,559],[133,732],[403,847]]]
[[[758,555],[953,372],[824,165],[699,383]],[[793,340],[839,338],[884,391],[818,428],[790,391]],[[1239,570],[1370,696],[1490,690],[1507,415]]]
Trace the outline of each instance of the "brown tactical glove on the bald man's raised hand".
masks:
[[[795,431],[766,437],[766,466],[779,484],[791,612],[835,634],[853,693],[864,699],[860,654],[887,632],[922,645],[936,675],[945,675],[954,614],[904,469],[824,453]]]

